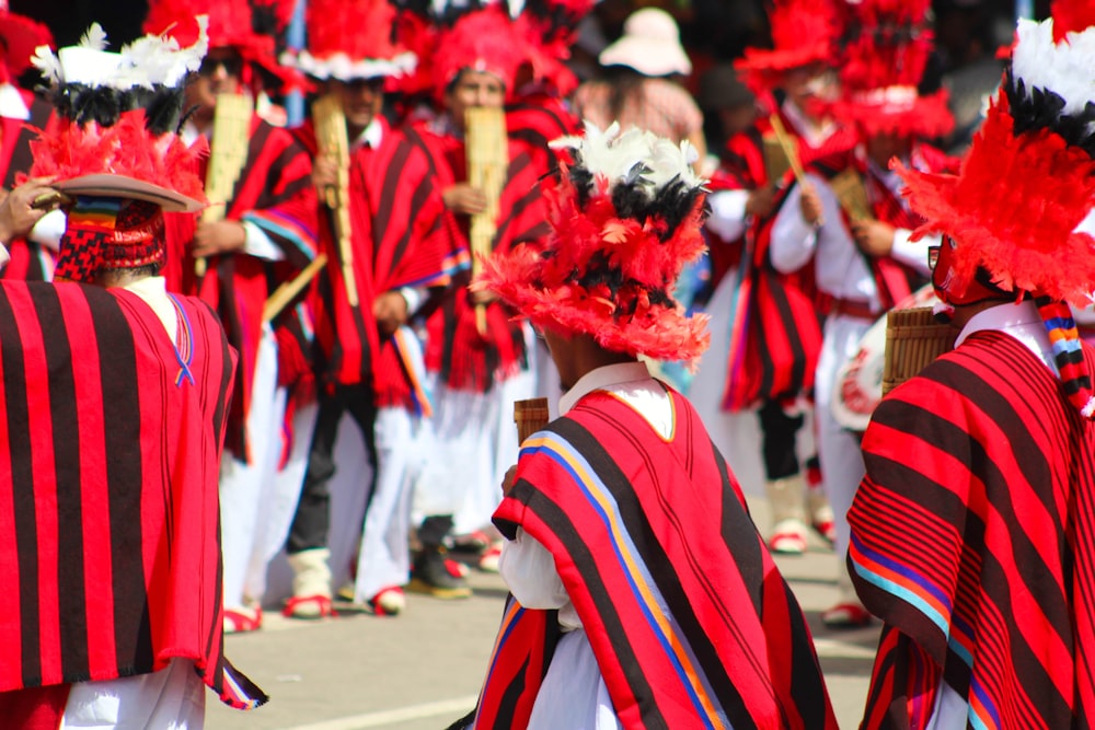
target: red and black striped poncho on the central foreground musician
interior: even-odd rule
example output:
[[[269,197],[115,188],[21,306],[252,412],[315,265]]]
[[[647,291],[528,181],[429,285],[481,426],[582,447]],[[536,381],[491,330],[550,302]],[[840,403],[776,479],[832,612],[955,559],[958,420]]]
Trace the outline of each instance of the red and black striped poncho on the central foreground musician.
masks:
[[[670,395],[668,439],[612,395],[581,398],[525,441],[495,523],[554,556],[627,730],[835,729],[791,588],[699,416]],[[551,619],[509,604],[475,728],[525,727]]]

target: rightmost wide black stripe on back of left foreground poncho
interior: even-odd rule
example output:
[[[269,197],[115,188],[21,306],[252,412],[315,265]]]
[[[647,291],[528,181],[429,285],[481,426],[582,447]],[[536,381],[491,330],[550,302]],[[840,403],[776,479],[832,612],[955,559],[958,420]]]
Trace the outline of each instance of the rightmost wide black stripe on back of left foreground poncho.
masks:
[[[118,668],[151,671],[152,631],[141,566],[141,496],[143,465],[140,451],[140,397],[132,329],[113,296],[94,310],[103,392],[104,457],[110,484],[111,558],[114,578],[114,641]],[[135,559],[134,556],[138,556]],[[135,630],[136,629],[136,630]]]

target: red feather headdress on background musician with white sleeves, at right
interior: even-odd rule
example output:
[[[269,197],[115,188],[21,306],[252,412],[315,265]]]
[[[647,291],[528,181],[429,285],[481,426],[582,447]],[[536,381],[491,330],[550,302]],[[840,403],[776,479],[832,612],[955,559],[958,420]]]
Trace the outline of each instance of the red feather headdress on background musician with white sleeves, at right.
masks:
[[[837,118],[868,136],[890,131],[934,139],[954,128],[946,91],[918,92],[932,53],[930,12],[931,0],[845,3]]]

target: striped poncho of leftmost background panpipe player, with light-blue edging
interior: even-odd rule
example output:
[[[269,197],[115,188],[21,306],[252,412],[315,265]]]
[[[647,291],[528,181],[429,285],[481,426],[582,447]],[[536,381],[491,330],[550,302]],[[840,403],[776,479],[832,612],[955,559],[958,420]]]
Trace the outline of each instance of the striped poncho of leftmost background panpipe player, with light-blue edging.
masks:
[[[228,340],[240,352],[226,447],[244,461],[249,453],[244,422],[251,408],[263,305],[279,285],[308,266],[318,246],[318,202],[311,158],[291,134],[257,115],[251,121],[250,139],[247,159],[224,218],[256,224],[281,251],[281,260],[269,262],[244,253],[214,256],[208,259],[206,275],[196,281],[189,250],[198,215],[164,216],[168,230],[164,276],[169,290],[196,294],[208,302],[224,324]],[[205,176],[205,170],[201,175]],[[295,316],[292,308],[286,308],[281,316]],[[275,321],[275,328],[279,323]]]

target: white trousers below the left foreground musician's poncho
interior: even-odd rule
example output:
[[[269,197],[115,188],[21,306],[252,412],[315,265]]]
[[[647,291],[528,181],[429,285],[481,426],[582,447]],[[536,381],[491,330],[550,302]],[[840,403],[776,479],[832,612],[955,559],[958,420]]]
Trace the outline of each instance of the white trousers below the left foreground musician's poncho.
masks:
[[[77,682],[59,730],[201,730],[206,691],[187,659],[173,659],[151,674]]]

